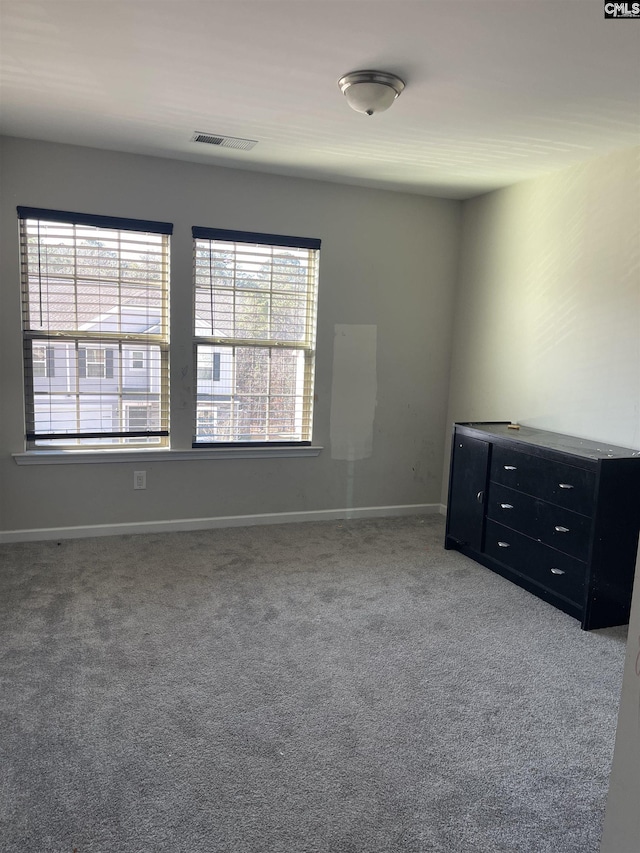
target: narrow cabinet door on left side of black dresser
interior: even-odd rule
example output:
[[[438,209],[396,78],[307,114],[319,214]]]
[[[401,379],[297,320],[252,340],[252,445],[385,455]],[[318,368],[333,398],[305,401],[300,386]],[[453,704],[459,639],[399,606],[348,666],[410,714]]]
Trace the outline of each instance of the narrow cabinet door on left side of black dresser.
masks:
[[[489,443],[466,435],[453,437],[453,463],[447,534],[480,550],[484,528]]]

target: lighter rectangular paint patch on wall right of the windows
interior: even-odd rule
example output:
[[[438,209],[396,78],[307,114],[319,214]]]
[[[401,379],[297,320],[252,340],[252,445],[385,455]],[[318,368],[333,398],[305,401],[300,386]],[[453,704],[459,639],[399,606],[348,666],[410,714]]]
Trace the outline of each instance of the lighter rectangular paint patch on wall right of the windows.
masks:
[[[333,339],[331,458],[365,459],[373,452],[378,393],[377,326],[338,323]]]

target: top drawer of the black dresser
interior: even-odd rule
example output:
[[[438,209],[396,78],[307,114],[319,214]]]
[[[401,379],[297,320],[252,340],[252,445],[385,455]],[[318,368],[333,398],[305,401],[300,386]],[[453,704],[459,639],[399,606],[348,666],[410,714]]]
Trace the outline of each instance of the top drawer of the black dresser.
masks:
[[[582,515],[592,511],[596,478],[584,468],[497,446],[491,457],[491,480]]]

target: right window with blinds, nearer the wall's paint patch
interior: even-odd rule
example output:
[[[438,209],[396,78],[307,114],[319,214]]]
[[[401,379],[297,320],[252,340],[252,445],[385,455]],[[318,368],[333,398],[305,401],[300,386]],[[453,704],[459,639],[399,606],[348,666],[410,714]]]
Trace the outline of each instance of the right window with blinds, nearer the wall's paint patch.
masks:
[[[194,447],[311,441],[320,241],[194,228]]]

